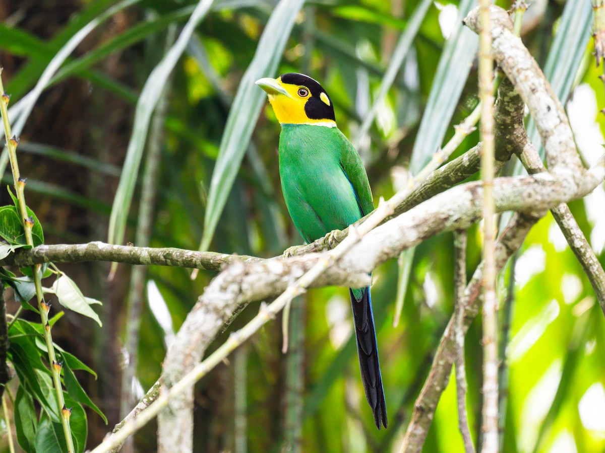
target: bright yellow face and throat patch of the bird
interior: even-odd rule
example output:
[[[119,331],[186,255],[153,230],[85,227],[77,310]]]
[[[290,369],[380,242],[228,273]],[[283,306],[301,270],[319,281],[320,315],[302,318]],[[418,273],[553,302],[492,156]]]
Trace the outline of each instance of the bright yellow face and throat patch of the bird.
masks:
[[[285,94],[269,94],[269,102],[275,112],[275,117],[280,123],[286,124],[325,124],[332,123],[336,125],[335,121],[332,120],[314,120],[307,117],[305,112],[305,104],[311,97],[309,88],[302,85],[291,85],[289,83],[281,82],[281,77],[276,79],[277,83],[281,85],[290,96]],[[328,97],[322,93],[320,96],[324,103],[330,105]],[[327,101],[327,102],[326,102]]]

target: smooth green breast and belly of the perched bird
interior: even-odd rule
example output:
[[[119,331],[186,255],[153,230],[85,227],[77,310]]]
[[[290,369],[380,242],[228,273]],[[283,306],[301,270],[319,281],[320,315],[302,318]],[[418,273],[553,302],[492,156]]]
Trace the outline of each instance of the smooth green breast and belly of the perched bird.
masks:
[[[307,242],[362,217],[342,170],[341,158],[349,149],[347,138],[336,127],[282,124],[281,188],[290,217]]]

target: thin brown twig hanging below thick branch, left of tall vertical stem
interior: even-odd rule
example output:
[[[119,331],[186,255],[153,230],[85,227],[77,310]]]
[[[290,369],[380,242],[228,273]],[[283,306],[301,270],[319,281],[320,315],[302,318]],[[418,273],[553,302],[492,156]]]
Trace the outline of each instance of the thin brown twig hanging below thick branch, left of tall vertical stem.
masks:
[[[466,416],[466,369],[464,359],[464,307],[461,302],[466,288],[466,231],[454,231],[454,337],[456,338],[456,395],[458,400],[458,428],[462,434],[464,450],[474,453],[473,438]]]

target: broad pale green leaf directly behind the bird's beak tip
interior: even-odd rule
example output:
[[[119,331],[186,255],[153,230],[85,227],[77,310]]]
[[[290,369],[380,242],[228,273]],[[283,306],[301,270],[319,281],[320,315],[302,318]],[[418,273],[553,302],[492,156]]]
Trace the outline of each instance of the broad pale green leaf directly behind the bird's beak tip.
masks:
[[[266,94],[254,82],[275,73],[296,16],[303,4],[304,0],[281,0],[278,3],[258,41],[254,58],[240,81],[212,173],[200,250],[206,250],[210,245],[218,219],[227,202],[227,196],[240,169],[252,130],[266,102]]]

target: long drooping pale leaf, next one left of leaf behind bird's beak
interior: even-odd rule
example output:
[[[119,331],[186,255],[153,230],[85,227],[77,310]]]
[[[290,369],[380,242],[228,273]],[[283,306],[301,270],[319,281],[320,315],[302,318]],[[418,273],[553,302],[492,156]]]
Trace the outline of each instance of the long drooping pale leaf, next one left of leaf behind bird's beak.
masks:
[[[160,100],[160,95],[166,85],[168,76],[177,64],[178,59],[180,59],[181,54],[183,54],[195,27],[197,27],[201,19],[208,13],[212,2],[214,2],[214,0],[200,0],[200,2],[198,2],[195,10],[191,14],[191,18],[189,18],[189,21],[185,24],[180,36],[178,36],[177,41],[172,45],[162,61],[155,66],[145,82],[145,86],[143,86],[134,113],[134,126],[132,126],[132,135],[128,143],[128,150],[126,151],[126,159],[122,168],[122,177],[120,178],[116,197],[114,198],[113,207],[111,208],[108,233],[108,242],[110,243],[122,243],[124,239],[126,219],[128,218],[128,211],[132,202],[132,193],[134,193],[134,186],[139,173],[139,166],[143,156],[143,149],[145,148],[151,115],[155,110],[155,106],[157,106],[157,102]]]

